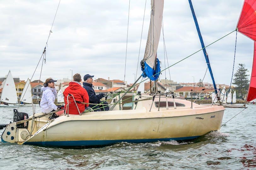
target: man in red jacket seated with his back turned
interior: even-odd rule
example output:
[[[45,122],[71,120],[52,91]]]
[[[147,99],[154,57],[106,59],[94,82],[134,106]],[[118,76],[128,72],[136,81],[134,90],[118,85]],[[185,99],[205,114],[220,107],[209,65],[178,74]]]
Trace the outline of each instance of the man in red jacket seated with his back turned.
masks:
[[[81,86],[82,84],[80,83],[82,81],[81,75],[75,74],[73,76],[73,80],[74,81],[71,81],[69,83],[69,86],[63,92],[64,100],[65,100],[65,110],[66,110],[66,106],[67,106],[67,96],[69,94],[74,96],[75,101],[89,103],[88,93]],[[73,100],[72,96],[69,96],[69,109],[68,109],[69,114],[79,114],[79,112],[82,113],[83,111],[85,111],[85,109],[92,110],[92,109],[88,108],[89,104],[81,104],[81,103],[77,102],[77,107],[79,109],[79,112],[78,112],[75,101]]]

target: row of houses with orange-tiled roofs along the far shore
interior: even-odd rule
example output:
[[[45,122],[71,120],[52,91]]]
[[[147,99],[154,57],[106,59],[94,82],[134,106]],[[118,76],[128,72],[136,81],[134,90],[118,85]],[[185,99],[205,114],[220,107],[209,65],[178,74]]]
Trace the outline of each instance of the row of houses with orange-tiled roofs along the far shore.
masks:
[[[24,80],[18,80],[18,78],[15,78],[15,87],[16,87],[16,91],[17,91],[17,96],[20,97],[21,93],[25,87],[26,82]],[[57,80],[57,82],[55,83],[55,88],[57,91],[59,91],[60,89],[62,91],[65,90],[65,88],[68,87],[69,83],[71,82],[71,80],[64,78],[61,80]],[[2,92],[2,81],[0,81],[0,94]],[[150,90],[150,87],[153,85],[153,82],[151,82],[152,84],[150,85],[150,82],[145,82],[144,83],[144,91],[147,92]],[[32,95],[38,96],[39,98],[42,97],[43,91],[41,90],[41,87],[43,87],[43,81],[41,80],[34,80],[31,83],[31,89],[32,89]],[[199,87],[199,85],[203,86],[203,87]],[[100,93],[108,93],[108,92],[113,92],[113,93],[118,93],[121,91],[125,91],[127,89],[129,89],[132,84],[128,84],[126,81],[122,81],[122,80],[110,80],[110,78],[108,77],[108,80],[103,79],[103,78],[98,78],[96,80],[93,81],[93,88],[96,94],[100,94]],[[134,88],[132,88],[130,91],[131,92],[135,92],[137,91],[139,88],[139,85],[135,86]],[[200,97],[203,96],[208,96],[209,94],[211,94],[213,92],[213,84],[210,83],[177,83],[174,82],[173,80],[160,80],[157,81],[157,88],[160,91],[173,91],[176,95],[178,96],[182,96],[185,98],[190,98],[191,97],[191,90],[193,90],[192,92],[192,97],[195,98],[196,96],[199,95],[200,91],[202,89],[206,89],[202,92],[202,94],[200,95]],[[224,84],[218,84],[217,88],[229,88],[229,85],[224,85]],[[231,88],[233,88],[231,86]]]

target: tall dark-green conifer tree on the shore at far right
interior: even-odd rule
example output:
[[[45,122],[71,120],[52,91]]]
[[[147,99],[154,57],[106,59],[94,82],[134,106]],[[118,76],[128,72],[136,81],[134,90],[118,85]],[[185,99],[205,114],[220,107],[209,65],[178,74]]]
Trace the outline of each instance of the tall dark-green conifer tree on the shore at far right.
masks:
[[[236,85],[236,90],[241,94],[242,97],[247,93],[249,87],[249,75],[247,74],[248,69],[245,68],[245,64],[239,64],[238,70],[234,75],[233,84]]]

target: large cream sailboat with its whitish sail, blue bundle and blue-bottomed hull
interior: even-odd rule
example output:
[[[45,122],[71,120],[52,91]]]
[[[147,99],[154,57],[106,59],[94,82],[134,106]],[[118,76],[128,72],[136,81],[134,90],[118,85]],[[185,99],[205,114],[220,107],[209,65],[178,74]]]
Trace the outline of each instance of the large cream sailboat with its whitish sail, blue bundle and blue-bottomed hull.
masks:
[[[66,114],[52,120],[49,117],[53,112],[47,115],[37,113],[28,119],[8,124],[2,141],[24,145],[95,146],[117,142],[191,140],[220,129],[225,110],[223,106],[199,105],[192,99],[188,101],[157,90],[160,61],[156,53],[163,4],[163,0],[151,0],[151,22],[145,55],[141,61],[143,72],[134,82],[136,85],[141,77],[150,78],[154,85],[149,94],[128,93],[134,87],[132,85],[125,93],[113,98],[109,111],[73,115],[66,110]],[[132,99],[129,110],[122,107],[125,98]]]

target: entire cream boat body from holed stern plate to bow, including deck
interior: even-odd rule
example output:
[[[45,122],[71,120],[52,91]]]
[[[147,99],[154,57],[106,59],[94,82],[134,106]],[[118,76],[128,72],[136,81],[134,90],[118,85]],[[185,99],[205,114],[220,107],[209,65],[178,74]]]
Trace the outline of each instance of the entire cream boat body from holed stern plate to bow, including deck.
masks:
[[[161,98],[161,101],[165,100]],[[148,100],[138,102],[133,110],[69,114],[69,117],[62,115],[53,120],[37,118],[33,123],[32,120],[28,122],[28,129],[15,129],[14,122],[6,127],[2,141],[28,145],[94,146],[116,142],[190,140],[220,129],[223,106],[193,103],[193,108],[190,108],[190,101],[177,99],[176,102],[185,107],[162,107],[158,111],[155,105],[150,109],[152,100]]]

